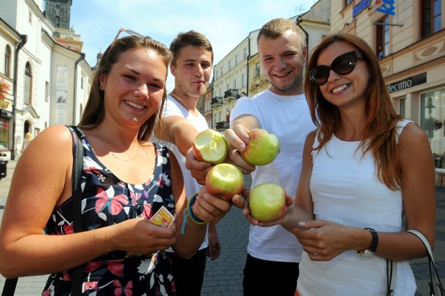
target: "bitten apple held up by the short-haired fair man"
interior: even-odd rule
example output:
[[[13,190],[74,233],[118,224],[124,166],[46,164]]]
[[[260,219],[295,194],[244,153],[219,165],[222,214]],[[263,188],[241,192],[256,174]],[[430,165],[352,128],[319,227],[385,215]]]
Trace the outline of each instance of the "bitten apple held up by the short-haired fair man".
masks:
[[[280,154],[280,141],[265,129],[252,129],[249,143],[241,157],[250,165],[268,165]]]

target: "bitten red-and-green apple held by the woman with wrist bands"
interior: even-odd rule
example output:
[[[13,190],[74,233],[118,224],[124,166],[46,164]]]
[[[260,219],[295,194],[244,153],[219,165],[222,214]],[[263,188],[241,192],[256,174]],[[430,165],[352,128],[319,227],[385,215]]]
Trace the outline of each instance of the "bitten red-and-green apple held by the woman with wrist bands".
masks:
[[[238,167],[229,163],[220,163],[207,173],[206,188],[211,195],[228,201],[243,191],[244,177]]]

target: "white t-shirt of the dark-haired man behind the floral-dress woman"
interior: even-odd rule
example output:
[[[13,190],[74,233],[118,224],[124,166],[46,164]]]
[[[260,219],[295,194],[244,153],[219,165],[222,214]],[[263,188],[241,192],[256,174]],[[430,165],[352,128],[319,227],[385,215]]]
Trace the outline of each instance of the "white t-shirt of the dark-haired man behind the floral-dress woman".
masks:
[[[197,129],[198,132],[209,129],[207,121],[201,113],[198,113],[197,116],[191,114],[190,112],[188,112],[188,110],[186,110],[186,108],[181,106],[181,104],[179,104],[175,99],[168,95],[167,100],[165,101],[165,109],[163,111],[162,117],[165,118],[172,115],[185,118],[186,120],[191,122],[193,126],[195,126],[195,129]],[[159,140],[158,138],[156,138],[155,135],[152,135],[152,138],[150,140],[152,142],[157,142],[161,145],[164,145],[165,147],[170,149],[173,154],[175,154],[175,157],[177,158],[179,166],[182,170],[182,176],[184,176],[184,186],[186,187],[187,198],[190,198],[192,195],[198,192],[201,189],[202,185],[200,185],[200,183],[197,183],[196,179],[193,178],[193,176],[191,175],[191,172],[186,168],[186,157],[181,154],[181,151],[179,151],[177,145],[165,140]],[[181,215],[181,213],[178,213],[178,215]],[[207,245],[208,242],[206,233],[206,237],[204,238],[204,242],[202,242],[200,249],[206,248]]]

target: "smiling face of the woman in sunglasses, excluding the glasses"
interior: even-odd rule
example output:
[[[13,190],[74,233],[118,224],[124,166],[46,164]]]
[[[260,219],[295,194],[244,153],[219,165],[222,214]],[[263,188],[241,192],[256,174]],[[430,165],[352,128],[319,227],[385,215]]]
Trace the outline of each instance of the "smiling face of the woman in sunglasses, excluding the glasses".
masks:
[[[320,52],[316,65],[330,66],[332,61],[341,54],[355,50],[357,49],[348,42],[334,42]],[[368,87],[369,78],[369,69],[366,62],[357,59],[352,72],[340,75],[331,69],[327,82],[319,87],[323,97],[338,108],[357,104],[364,106],[366,101],[364,94]]]

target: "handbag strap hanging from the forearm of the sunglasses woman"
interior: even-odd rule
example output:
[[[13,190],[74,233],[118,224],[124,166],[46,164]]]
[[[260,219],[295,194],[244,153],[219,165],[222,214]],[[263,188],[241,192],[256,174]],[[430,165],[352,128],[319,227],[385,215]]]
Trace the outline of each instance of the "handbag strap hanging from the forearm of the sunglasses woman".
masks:
[[[432,257],[432,250],[430,247],[430,243],[428,242],[426,237],[423,236],[423,234],[420,233],[419,231],[410,229],[410,230],[407,230],[406,232],[412,233],[412,234],[414,234],[414,236],[417,236],[423,242],[423,245],[425,245],[426,251],[428,253],[428,265],[430,267],[430,282],[428,283],[429,295],[430,296],[435,295],[435,286],[436,286],[437,295],[445,296],[444,286],[442,286],[442,282],[440,281],[439,273],[437,273],[437,268],[436,268],[436,264],[434,262],[434,258]],[[395,286],[395,281],[396,281],[396,272],[395,272],[396,266],[397,266],[397,264],[393,264],[392,261],[387,261],[387,283],[388,283],[387,295],[393,295],[393,293],[394,293],[394,286]],[[434,270],[434,275],[435,275],[434,277],[432,276],[433,270]],[[391,274],[391,276],[389,274]],[[434,282],[436,284],[434,284]]]

